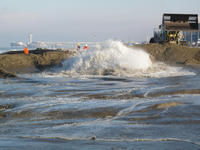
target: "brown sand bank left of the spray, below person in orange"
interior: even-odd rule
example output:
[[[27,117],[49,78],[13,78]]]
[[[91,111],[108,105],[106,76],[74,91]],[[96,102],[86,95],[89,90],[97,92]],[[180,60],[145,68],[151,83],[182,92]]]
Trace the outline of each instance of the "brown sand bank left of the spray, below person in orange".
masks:
[[[72,53],[70,51],[43,51],[39,53],[35,50],[30,54],[23,52],[1,54],[0,77],[16,77],[17,75],[14,73],[35,72],[54,67],[64,59],[69,58]]]

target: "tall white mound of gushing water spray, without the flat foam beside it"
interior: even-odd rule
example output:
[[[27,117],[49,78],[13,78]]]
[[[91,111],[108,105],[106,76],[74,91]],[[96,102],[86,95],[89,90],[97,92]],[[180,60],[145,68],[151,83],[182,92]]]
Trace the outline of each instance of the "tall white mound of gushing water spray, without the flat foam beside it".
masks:
[[[108,41],[63,62],[65,74],[126,75],[152,66],[149,55],[141,49],[128,48],[120,41]]]

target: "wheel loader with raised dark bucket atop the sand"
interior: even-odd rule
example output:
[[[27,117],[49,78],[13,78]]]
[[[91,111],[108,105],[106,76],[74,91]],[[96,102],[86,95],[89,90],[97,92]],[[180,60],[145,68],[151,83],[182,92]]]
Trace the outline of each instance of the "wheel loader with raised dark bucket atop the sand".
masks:
[[[149,43],[186,44],[183,31],[199,31],[197,14],[163,14],[162,24],[154,29],[154,37]]]

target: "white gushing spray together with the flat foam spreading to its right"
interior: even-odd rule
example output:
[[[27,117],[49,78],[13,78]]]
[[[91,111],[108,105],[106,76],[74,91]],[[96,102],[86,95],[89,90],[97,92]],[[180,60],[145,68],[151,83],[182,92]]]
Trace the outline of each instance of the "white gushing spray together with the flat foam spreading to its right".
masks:
[[[195,75],[182,67],[152,62],[142,49],[129,48],[120,41],[108,41],[63,62],[60,75],[114,75],[126,77],[170,77]]]

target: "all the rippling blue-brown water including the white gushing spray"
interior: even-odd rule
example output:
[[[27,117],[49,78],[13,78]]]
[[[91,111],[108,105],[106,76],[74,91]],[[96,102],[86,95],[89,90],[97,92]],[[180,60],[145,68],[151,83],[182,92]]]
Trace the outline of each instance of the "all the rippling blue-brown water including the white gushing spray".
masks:
[[[62,67],[0,79],[0,105],[10,106],[0,148],[199,149],[199,74],[108,41]],[[153,107],[170,102],[180,105]]]

